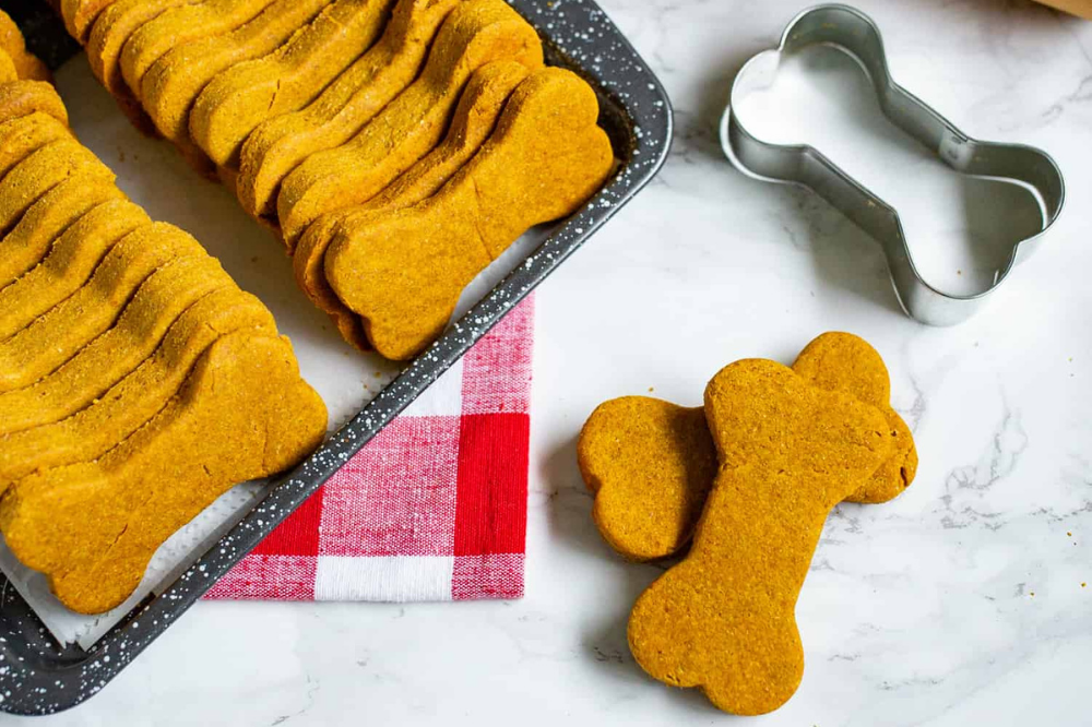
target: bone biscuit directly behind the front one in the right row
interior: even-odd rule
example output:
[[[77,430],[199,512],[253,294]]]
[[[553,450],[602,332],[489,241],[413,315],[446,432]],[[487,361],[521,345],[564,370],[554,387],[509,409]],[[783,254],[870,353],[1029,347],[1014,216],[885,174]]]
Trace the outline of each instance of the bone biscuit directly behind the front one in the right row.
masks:
[[[360,214],[397,210],[431,196],[485,143],[508,96],[529,74],[526,65],[514,61],[486,63],[474,71],[439,146],[364,205],[327,213],[300,236],[292,261],[296,284],[311,302],[330,315],[345,341],[361,350],[370,348],[364,324],[334,295],[322,267],[327,248],[341,226],[352,228]]]

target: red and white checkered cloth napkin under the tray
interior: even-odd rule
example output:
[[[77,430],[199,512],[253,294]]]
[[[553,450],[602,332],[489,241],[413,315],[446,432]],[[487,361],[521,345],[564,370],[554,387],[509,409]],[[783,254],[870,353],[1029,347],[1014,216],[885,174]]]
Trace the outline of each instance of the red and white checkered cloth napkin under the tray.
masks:
[[[533,321],[529,299],[205,597],[521,597]]]

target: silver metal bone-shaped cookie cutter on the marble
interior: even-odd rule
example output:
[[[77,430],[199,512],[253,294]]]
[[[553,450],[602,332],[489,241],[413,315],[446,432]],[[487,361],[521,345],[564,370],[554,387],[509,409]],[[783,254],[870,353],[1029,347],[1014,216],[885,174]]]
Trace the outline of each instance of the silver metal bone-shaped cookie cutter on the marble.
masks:
[[[893,207],[815,147],[759,141],[732,112],[744,95],[773,83],[784,56],[819,44],[834,46],[856,59],[871,79],[888,119],[933,150],[949,167],[975,177],[1020,182],[1034,192],[1043,214],[1042,230],[1012,247],[1008,263],[994,274],[989,289],[973,296],[952,296],[930,286],[914,265]],[[860,11],[841,4],[805,10],[785,28],[780,47],[747,61],[732,84],[728,107],[721,119],[721,145],[744,174],[764,181],[808,187],[875,238],[887,254],[891,282],[903,310],[930,325],[952,325],[970,318],[1012,267],[1038,247],[1043,234],[1061,213],[1066,196],[1061,170],[1045,152],[1022,144],[971,139],[897,84],[888,71],[879,28]]]

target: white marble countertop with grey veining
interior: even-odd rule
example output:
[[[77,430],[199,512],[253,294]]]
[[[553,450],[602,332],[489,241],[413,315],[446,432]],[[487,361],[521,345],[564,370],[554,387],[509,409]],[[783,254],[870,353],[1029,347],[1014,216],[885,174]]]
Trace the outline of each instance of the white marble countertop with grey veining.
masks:
[[[677,134],[652,187],[538,294],[526,597],[203,603],[47,723],[729,722],[630,657],[626,618],[658,571],[600,539],[574,438],[603,400],[652,390],[697,404],[721,366],[787,362],[834,329],[887,359],[922,465],[900,499],[828,521],[797,609],[804,683],[756,723],[1092,719],[1092,23],[1022,1],[860,0],[900,82],[972,135],[1047,150],[1069,186],[1061,221],[996,299],[963,325],[928,329],[899,312],[868,238],[720,155],[728,81],[802,4],[603,4],[666,85]],[[930,279],[974,289],[1019,235],[1022,195],[938,171],[878,120],[838,58],[803,65],[830,93],[791,74],[779,85],[790,93],[755,114],[772,134],[830,133],[824,148],[904,212]],[[769,114],[781,103],[797,110]]]

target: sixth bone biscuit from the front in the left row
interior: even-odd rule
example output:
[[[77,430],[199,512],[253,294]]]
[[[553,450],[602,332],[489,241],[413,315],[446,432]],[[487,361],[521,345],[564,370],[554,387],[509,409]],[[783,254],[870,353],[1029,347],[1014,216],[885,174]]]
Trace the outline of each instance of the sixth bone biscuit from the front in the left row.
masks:
[[[0,239],[0,285],[10,285],[33,270],[52,241],[88,210],[121,199],[124,194],[116,186],[88,183],[82,176],[70,177],[54,187]]]

